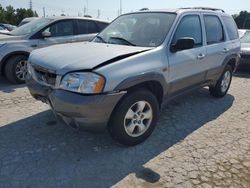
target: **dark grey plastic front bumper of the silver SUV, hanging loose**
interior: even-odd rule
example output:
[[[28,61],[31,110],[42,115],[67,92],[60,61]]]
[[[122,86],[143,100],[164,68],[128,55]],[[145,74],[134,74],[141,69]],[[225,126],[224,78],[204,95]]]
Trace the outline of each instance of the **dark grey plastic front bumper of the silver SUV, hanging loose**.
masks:
[[[105,130],[113,109],[125,95],[125,92],[82,95],[43,86],[32,78],[26,83],[31,95],[37,100],[47,101],[66,124],[90,131]]]

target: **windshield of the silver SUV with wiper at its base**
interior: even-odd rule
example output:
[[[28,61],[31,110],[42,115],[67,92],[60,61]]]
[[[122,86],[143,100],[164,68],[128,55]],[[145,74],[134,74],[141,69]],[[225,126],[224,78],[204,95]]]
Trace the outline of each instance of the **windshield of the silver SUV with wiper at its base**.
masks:
[[[172,13],[135,13],[117,18],[93,41],[141,47],[161,45],[176,15]]]

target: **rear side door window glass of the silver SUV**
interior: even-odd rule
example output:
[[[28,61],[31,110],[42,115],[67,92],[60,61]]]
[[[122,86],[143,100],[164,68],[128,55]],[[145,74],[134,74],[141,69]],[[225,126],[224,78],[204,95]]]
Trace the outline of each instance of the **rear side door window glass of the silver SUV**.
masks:
[[[205,15],[207,44],[215,44],[224,41],[224,32],[220,19],[217,16]]]

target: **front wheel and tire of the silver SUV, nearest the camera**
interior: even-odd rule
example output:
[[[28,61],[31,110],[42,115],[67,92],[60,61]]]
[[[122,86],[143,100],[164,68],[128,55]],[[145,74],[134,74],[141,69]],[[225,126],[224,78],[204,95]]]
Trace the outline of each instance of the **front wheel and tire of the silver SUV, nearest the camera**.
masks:
[[[143,104],[145,104],[144,108]],[[139,108],[140,106],[141,108]],[[141,113],[139,113],[140,111]],[[130,118],[131,113],[129,112],[133,112],[133,118]],[[159,103],[153,93],[146,89],[131,91],[116,106],[108,130],[119,143],[134,146],[145,141],[151,135],[156,126],[158,114]]]

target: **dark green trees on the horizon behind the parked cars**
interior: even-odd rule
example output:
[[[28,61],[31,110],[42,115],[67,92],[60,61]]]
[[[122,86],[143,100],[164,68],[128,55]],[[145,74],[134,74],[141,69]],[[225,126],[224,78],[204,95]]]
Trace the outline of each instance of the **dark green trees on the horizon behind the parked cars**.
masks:
[[[3,8],[0,4],[0,23],[18,25],[24,18],[27,17],[38,17],[38,14],[36,11],[31,9],[14,9],[11,5]],[[250,29],[250,12],[241,11],[239,14],[234,14],[233,18],[239,29]]]

